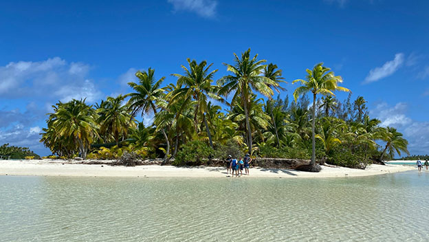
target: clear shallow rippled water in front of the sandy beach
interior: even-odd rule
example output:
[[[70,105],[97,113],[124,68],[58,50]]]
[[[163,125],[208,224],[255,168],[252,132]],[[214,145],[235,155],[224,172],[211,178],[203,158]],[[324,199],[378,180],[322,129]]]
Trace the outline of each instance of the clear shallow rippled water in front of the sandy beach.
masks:
[[[429,172],[0,177],[0,241],[427,241]]]

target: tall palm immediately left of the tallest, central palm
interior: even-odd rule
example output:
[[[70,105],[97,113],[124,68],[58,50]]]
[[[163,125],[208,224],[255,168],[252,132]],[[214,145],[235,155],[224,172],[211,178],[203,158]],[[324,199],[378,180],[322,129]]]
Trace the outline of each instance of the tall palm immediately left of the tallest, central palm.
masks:
[[[209,69],[213,63],[207,65],[207,61],[201,61],[199,64],[195,60],[190,61],[190,58],[187,58],[186,61],[188,61],[189,69],[184,65],[181,66],[185,71],[184,75],[172,74],[172,76],[177,77],[177,85],[184,85],[184,87],[175,89],[168,96],[170,96],[171,104],[174,104],[177,100],[185,100],[184,105],[189,104],[192,100],[196,101],[194,115],[195,131],[198,133],[197,116],[201,115],[206,125],[210,146],[213,147],[212,135],[206,119],[207,96],[220,100],[219,96],[214,94],[215,87],[211,85],[213,82],[212,78],[218,69],[210,72]]]

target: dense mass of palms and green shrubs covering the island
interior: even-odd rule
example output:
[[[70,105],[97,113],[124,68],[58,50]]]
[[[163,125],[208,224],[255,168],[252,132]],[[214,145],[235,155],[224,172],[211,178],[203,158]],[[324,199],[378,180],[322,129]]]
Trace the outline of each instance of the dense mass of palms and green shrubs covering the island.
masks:
[[[188,58],[186,65],[182,74],[172,74],[175,84],[162,87],[164,77],[155,78],[155,69],[149,68],[135,74],[138,82],[129,83],[131,94],[95,106],[85,100],[58,102],[41,142],[58,156],[120,159],[126,151],[175,157],[175,165],[251,153],[362,168],[408,153],[401,133],[369,117],[362,96],[336,98],[336,91],[349,89],[340,87],[341,76],[322,63],[307,69],[304,80],[294,81],[301,85],[292,100],[288,95],[273,99],[283,89],[281,69],[250,50],[234,54],[231,65],[224,63],[229,74],[217,81],[217,69],[207,61]],[[307,93],[313,94],[312,104]],[[135,116],[147,113],[154,120],[146,127]]]

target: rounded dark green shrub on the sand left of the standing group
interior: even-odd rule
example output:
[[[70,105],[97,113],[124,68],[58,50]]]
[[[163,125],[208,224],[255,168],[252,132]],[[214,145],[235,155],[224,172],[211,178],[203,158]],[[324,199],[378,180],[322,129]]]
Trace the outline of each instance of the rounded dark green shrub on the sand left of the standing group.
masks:
[[[205,142],[195,140],[185,144],[181,151],[177,152],[173,166],[200,166],[206,164],[203,159],[208,159],[214,153]]]

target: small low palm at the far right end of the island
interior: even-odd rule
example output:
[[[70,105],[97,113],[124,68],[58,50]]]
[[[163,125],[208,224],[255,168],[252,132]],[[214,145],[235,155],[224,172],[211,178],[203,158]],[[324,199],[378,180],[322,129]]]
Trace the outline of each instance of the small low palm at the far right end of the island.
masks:
[[[410,155],[410,152],[408,152],[407,149],[408,141],[404,139],[404,137],[402,137],[402,134],[399,133],[395,128],[386,127],[386,137],[384,137],[383,140],[386,141],[386,146],[384,148],[382,156],[380,157],[381,161],[383,160],[386,151],[389,155],[391,155],[391,157],[395,155],[395,152],[398,155],[401,155],[401,151],[404,151],[407,155]]]

